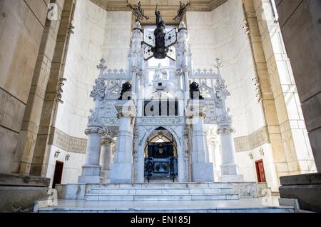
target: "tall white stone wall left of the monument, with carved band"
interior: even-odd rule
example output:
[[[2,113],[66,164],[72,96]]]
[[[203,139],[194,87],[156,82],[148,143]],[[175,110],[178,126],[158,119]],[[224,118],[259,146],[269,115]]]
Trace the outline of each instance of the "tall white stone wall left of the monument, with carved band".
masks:
[[[62,183],[76,183],[85,161],[86,134],[90,97],[98,76],[101,57],[111,69],[126,69],[131,39],[131,12],[104,11],[91,1],[77,1],[74,14],[75,34],[71,35],[66,57],[63,86],[63,104],[58,104],[54,136],[46,176],[54,176],[56,160],[64,162]],[[59,138],[70,146],[64,146]],[[54,158],[60,151],[58,158]],[[70,155],[65,161],[66,155]]]

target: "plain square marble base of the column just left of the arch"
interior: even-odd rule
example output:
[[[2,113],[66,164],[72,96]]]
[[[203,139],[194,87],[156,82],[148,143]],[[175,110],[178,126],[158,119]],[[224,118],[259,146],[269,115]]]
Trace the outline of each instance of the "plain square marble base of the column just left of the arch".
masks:
[[[132,183],[133,166],[131,163],[113,163],[111,183]]]

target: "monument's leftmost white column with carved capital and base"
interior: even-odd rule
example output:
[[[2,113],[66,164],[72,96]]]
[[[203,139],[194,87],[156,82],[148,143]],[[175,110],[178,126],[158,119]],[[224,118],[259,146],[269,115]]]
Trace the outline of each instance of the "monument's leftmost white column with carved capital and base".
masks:
[[[85,133],[88,136],[86,163],[82,166],[82,173],[78,178],[78,183],[100,183],[101,136],[105,132],[105,129],[101,126],[90,126],[86,129]]]

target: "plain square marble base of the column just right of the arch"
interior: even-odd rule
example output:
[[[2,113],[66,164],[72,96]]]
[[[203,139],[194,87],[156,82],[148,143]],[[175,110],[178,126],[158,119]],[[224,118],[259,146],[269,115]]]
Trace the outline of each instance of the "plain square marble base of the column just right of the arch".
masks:
[[[213,163],[193,163],[193,182],[214,182]]]

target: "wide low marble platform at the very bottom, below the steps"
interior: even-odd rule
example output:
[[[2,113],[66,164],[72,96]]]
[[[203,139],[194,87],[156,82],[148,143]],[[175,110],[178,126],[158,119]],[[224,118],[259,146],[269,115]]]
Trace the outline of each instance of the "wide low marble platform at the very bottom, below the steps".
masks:
[[[263,198],[223,201],[84,201],[60,200],[58,206],[40,208],[40,213],[293,213],[293,206],[279,206]]]

